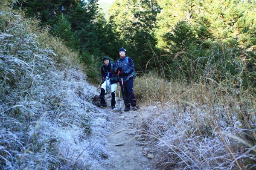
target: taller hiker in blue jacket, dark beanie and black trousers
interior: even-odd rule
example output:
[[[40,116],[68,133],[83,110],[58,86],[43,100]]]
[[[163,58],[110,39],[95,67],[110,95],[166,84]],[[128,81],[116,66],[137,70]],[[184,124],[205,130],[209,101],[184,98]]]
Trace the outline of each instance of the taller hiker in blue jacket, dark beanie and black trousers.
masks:
[[[135,78],[134,62],[126,56],[126,49],[119,49],[120,58],[116,61],[115,73],[118,75],[118,81],[121,86],[122,96],[125,103],[125,112],[129,111],[130,105],[137,110],[137,100],[133,91]]]

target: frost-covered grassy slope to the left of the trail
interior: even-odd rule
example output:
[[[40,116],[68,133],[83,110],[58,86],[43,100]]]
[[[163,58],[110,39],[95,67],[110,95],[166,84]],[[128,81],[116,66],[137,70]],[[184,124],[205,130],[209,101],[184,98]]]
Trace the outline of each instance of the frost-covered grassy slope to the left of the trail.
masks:
[[[0,169],[100,167],[107,113],[77,53],[0,2]]]

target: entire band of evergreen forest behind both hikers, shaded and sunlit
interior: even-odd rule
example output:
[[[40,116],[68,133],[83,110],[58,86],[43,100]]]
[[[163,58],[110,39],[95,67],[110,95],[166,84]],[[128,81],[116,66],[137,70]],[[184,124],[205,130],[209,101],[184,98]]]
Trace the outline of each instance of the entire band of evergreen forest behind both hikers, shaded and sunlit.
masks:
[[[206,74],[222,81],[230,75],[234,82],[239,75],[245,87],[256,84],[253,0],[116,0],[108,20],[98,0],[20,0],[15,8],[78,51],[94,83],[101,58],[116,61],[124,47],[139,75],[155,70],[188,81]]]

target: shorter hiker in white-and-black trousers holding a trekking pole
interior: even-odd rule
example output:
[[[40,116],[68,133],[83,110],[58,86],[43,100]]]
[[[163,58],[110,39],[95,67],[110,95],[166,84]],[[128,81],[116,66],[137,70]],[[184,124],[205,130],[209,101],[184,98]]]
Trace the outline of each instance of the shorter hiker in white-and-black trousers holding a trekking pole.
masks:
[[[107,104],[105,102],[105,93],[109,91],[111,92],[111,109],[116,108],[116,83],[117,77],[114,74],[113,68],[116,66],[113,62],[110,61],[108,56],[102,58],[103,65],[101,67],[101,78],[102,78],[102,86],[100,89],[100,103],[99,107],[105,107]]]

